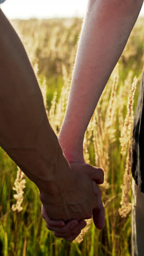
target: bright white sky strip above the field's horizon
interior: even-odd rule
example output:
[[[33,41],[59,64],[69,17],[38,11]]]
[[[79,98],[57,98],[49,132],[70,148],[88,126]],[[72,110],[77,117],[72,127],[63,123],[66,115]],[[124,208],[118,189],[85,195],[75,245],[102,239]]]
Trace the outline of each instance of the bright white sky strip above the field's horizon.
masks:
[[[88,0],[7,0],[2,10],[9,19],[82,17]],[[144,15],[144,6],[140,16]]]

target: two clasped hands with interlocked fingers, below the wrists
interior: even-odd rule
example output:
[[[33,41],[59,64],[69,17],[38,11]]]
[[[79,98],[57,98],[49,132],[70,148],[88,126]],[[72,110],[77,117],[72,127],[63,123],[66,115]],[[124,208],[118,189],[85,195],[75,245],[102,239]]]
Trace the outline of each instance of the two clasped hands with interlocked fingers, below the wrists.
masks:
[[[71,172],[62,172],[52,184],[52,193],[40,192],[41,214],[56,237],[73,241],[86,226],[84,219],[93,215],[98,229],[104,228],[105,213],[97,184],[104,182],[104,172],[86,162],[69,162]]]

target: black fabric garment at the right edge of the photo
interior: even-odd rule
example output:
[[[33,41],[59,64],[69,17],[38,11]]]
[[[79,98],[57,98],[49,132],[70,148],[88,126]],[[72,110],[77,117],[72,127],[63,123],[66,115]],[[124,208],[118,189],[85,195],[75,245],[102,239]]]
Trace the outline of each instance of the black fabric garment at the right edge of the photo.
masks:
[[[144,67],[142,71],[139,98],[134,115],[132,143],[132,174],[136,184],[144,193]]]

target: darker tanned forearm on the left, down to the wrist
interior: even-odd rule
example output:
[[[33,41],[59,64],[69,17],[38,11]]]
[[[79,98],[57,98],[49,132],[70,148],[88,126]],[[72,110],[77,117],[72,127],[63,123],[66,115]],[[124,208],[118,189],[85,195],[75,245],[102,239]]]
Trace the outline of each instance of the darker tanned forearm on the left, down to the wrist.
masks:
[[[46,179],[49,187],[64,156],[25,48],[1,9],[0,78],[0,146],[39,188]]]

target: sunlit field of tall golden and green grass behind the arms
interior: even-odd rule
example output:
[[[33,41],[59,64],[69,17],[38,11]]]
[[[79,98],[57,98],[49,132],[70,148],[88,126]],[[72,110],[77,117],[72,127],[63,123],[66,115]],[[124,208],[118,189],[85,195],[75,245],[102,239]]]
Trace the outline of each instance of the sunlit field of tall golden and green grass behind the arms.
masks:
[[[11,21],[25,45],[56,135],[69,95],[82,19]],[[105,172],[100,185],[105,228],[92,219],[73,242],[57,238],[41,217],[39,189],[0,149],[0,255],[131,255],[131,141],[144,63],[139,18],[95,108],[83,142],[85,160]],[[107,67],[103,67],[106,69]]]

